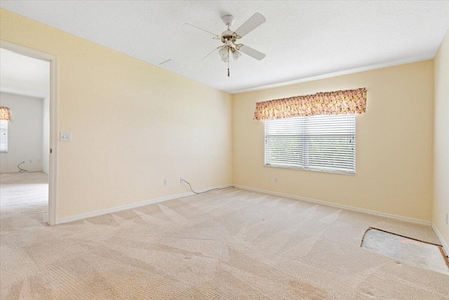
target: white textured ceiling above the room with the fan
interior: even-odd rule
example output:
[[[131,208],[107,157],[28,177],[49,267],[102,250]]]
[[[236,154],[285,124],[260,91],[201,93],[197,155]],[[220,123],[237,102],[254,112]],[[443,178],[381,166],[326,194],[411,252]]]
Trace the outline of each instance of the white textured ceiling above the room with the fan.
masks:
[[[152,65],[172,59],[177,74],[238,93],[434,58],[449,28],[449,1],[6,1],[25,15]],[[267,54],[227,65],[221,42],[186,22],[221,34],[255,12],[267,21],[243,37]],[[163,66],[161,66],[163,67]]]

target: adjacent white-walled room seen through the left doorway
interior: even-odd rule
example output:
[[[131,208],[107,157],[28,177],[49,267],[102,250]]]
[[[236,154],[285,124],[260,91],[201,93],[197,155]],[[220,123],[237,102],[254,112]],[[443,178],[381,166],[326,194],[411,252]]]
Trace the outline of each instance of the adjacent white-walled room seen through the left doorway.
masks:
[[[1,213],[10,223],[22,214],[48,222],[49,91],[48,62],[0,49]]]

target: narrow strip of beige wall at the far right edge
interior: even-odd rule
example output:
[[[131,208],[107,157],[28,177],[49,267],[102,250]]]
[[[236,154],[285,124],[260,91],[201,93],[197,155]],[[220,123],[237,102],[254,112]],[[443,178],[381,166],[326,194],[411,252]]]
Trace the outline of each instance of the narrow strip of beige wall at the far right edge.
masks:
[[[432,222],[449,245],[449,31],[435,57],[434,214]]]

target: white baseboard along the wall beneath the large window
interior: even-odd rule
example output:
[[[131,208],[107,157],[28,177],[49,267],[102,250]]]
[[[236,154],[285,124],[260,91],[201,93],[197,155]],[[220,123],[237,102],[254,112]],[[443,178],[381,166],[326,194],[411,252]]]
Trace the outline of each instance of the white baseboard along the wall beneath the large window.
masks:
[[[316,204],[323,204],[323,205],[327,205],[329,207],[337,207],[337,208],[340,208],[340,209],[348,209],[348,210],[351,210],[351,211],[363,212],[365,214],[373,214],[375,216],[383,216],[383,217],[389,218],[389,219],[396,219],[396,220],[400,220],[400,221],[406,221],[406,222],[410,222],[410,223],[417,223],[417,224],[421,224],[421,225],[431,226],[431,222],[430,221],[424,221],[424,220],[420,220],[420,219],[408,218],[407,216],[398,216],[396,214],[387,214],[387,213],[380,212],[380,211],[373,211],[373,210],[370,210],[370,209],[361,209],[361,208],[358,208],[358,207],[351,207],[349,205],[338,204],[338,203],[333,203],[333,202],[327,202],[327,201],[323,201],[323,200],[315,200],[315,199],[298,197],[298,196],[288,195],[288,194],[283,194],[283,193],[276,193],[276,192],[272,192],[271,190],[260,190],[258,188],[250,188],[250,187],[244,186],[244,185],[234,185],[234,186],[236,188],[241,188],[243,190],[253,190],[255,192],[266,193],[266,194],[276,195],[276,196],[281,196],[281,197],[287,197],[287,198],[292,198],[292,199],[295,199],[295,200],[302,200],[302,201],[312,202],[312,203],[316,203]]]

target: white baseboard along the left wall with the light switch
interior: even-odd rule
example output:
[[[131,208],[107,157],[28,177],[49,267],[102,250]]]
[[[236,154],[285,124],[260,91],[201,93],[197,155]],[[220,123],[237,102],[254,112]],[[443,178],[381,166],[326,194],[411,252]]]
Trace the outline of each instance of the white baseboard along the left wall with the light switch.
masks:
[[[216,188],[229,188],[230,186],[234,186],[234,185],[222,185],[222,186],[218,186]],[[199,193],[205,192],[206,190],[210,190],[210,189],[213,189],[213,188],[206,188],[204,190],[200,190]],[[102,216],[105,214],[113,214],[114,212],[117,212],[117,211],[123,211],[126,209],[135,209],[138,207],[145,207],[146,205],[149,205],[149,204],[156,204],[159,202],[174,200],[177,198],[187,197],[187,196],[191,196],[191,195],[195,195],[195,194],[192,192],[188,192],[188,193],[182,193],[182,194],[177,194],[177,195],[172,195],[172,196],[160,197],[160,198],[156,198],[156,199],[152,199],[152,200],[145,200],[145,201],[137,202],[137,203],[121,205],[119,207],[112,207],[109,209],[100,209],[97,211],[89,211],[84,214],[77,214],[76,216],[68,216],[67,218],[58,219],[58,220],[56,220],[56,224],[79,221],[82,219],[91,218],[93,216]]]

